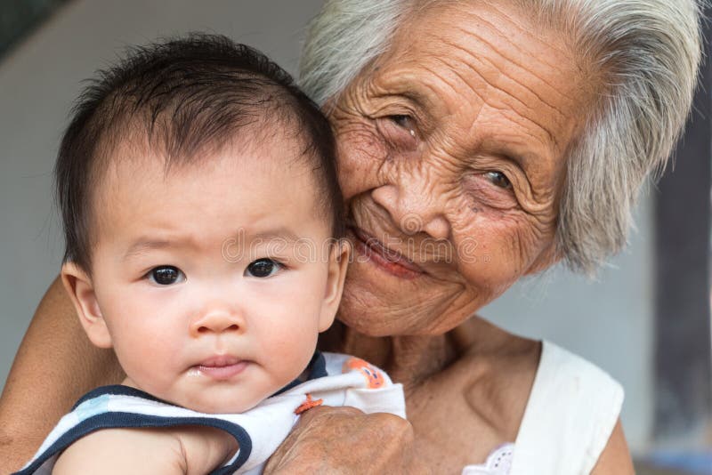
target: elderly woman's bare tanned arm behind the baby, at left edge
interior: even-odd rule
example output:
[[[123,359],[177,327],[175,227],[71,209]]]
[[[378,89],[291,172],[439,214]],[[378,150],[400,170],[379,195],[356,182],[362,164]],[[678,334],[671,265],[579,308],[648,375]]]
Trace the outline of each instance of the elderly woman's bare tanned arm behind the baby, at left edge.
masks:
[[[55,279],[37,307],[0,398],[0,472],[28,462],[60,417],[87,390],[124,378],[111,350],[86,338]]]

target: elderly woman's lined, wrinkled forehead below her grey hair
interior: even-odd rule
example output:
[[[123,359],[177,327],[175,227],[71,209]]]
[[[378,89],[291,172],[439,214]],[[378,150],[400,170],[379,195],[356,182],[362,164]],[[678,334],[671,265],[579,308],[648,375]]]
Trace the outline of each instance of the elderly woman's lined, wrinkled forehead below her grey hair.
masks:
[[[402,26],[369,89],[386,101],[409,97],[428,119],[445,119],[449,136],[471,142],[465,148],[506,133],[514,147],[526,142],[558,156],[594,98],[565,45],[512,6],[445,4]]]

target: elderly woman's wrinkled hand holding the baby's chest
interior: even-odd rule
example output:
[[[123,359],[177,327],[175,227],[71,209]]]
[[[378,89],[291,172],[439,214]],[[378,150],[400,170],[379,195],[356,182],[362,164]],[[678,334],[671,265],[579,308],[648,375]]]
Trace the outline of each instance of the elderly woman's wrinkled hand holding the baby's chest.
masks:
[[[414,452],[413,427],[397,415],[314,407],[302,415],[263,473],[425,473]]]

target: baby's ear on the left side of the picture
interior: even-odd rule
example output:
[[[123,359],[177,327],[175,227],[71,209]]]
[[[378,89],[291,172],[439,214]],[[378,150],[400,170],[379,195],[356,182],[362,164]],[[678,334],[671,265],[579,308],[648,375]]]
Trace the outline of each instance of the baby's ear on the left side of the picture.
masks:
[[[99,348],[111,348],[111,335],[96,301],[92,279],[74,262],[65,262],[61,266],[61,282],[74,303],[89,340]]]

